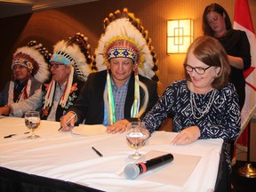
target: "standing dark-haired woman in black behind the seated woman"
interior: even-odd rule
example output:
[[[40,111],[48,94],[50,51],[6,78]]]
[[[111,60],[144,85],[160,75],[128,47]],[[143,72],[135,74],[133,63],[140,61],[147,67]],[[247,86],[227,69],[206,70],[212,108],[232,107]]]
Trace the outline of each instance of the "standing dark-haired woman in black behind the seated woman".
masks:
[[[214,36],[228,53],[231,66],[229,81],[235,84],[242,110],[245,100],[243,72],[251,67],[250,44],[244,31],[232,28],[228,12],[220,4],[210,4],[203,14],[204,36]]]

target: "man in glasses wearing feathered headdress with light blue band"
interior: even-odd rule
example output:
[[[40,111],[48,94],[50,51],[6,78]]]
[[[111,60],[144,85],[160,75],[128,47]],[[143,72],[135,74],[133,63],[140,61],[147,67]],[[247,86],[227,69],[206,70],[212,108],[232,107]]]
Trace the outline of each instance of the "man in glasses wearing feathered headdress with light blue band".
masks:
[[[78,98],[90,73],[91,55],[87,37],[76,33],[68,41],[54,45],[50,70],[52,80],[43,84],[28,100],[11,105],[13,116],[23,116],[28,110],[41,109],[41,119],[60,121]]]

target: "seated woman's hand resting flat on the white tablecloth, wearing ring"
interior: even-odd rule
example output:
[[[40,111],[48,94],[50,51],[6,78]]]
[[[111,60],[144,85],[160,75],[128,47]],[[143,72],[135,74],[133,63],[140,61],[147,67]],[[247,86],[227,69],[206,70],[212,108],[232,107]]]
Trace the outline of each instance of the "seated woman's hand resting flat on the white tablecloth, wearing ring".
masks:
[[[172,145],[186,145],[196,141],[200,137],[200,130],[197,126],[191,126],[182,130],[173,140]]]

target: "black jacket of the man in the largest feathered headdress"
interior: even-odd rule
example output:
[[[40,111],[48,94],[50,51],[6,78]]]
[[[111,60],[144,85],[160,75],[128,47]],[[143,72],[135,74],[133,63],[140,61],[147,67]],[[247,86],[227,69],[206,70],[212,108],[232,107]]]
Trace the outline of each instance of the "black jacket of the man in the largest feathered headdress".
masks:
[[[103,92],[107,79],[107,71],[100,71],[92,73],[88,76],[83,90],[80,92],[79,98],[76,100],[73,107],[68,111],[74,111],[77,115],[77,124],[81,124],[85,118],[85,124],[102,124],[104,118],[104,100]],[[146,112],[151,109],[158,100],[157,84],[155,81],[150,80],[144,76],[139,76],[140,82],[145,84],[148,88],[148,108]],[[142,105],[145,92],[140,88],[140,103]],[[124,118],[130,118],[131,108],[134,100],[134,74],[129,81],[125,105],[124,105]],[[140,105],[140,106],[141,106]],[[145,114],[145,113],[144,113]]]

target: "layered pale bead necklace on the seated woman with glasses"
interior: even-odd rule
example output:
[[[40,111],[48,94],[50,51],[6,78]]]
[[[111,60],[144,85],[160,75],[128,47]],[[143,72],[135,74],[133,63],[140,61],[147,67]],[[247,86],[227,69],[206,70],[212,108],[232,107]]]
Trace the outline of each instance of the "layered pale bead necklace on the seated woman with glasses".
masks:
[[[205,114],[207,114],[210,110],[210,108],[212,107],[212,103],[214,101],[214,97],[215,97],[215,94],[217,93],[217,90],[216,89],[213,89],[212,90],[212,93],[211,93],[211,96],[210,96],[210,99],[206,105],[206,107],[203,109],[201,108],[197,108],[196,106],[196,99],[195,99],[195,93],[194,92],[190,92],[190,105],[191,105],[191,110],[192,110],[192,114],[193,116],[196,118],[196,119],[200,119],[202,118],[202,116],[204,116]],[[198,112],[198,114],[200,116],[196,116],[196,111]]]

